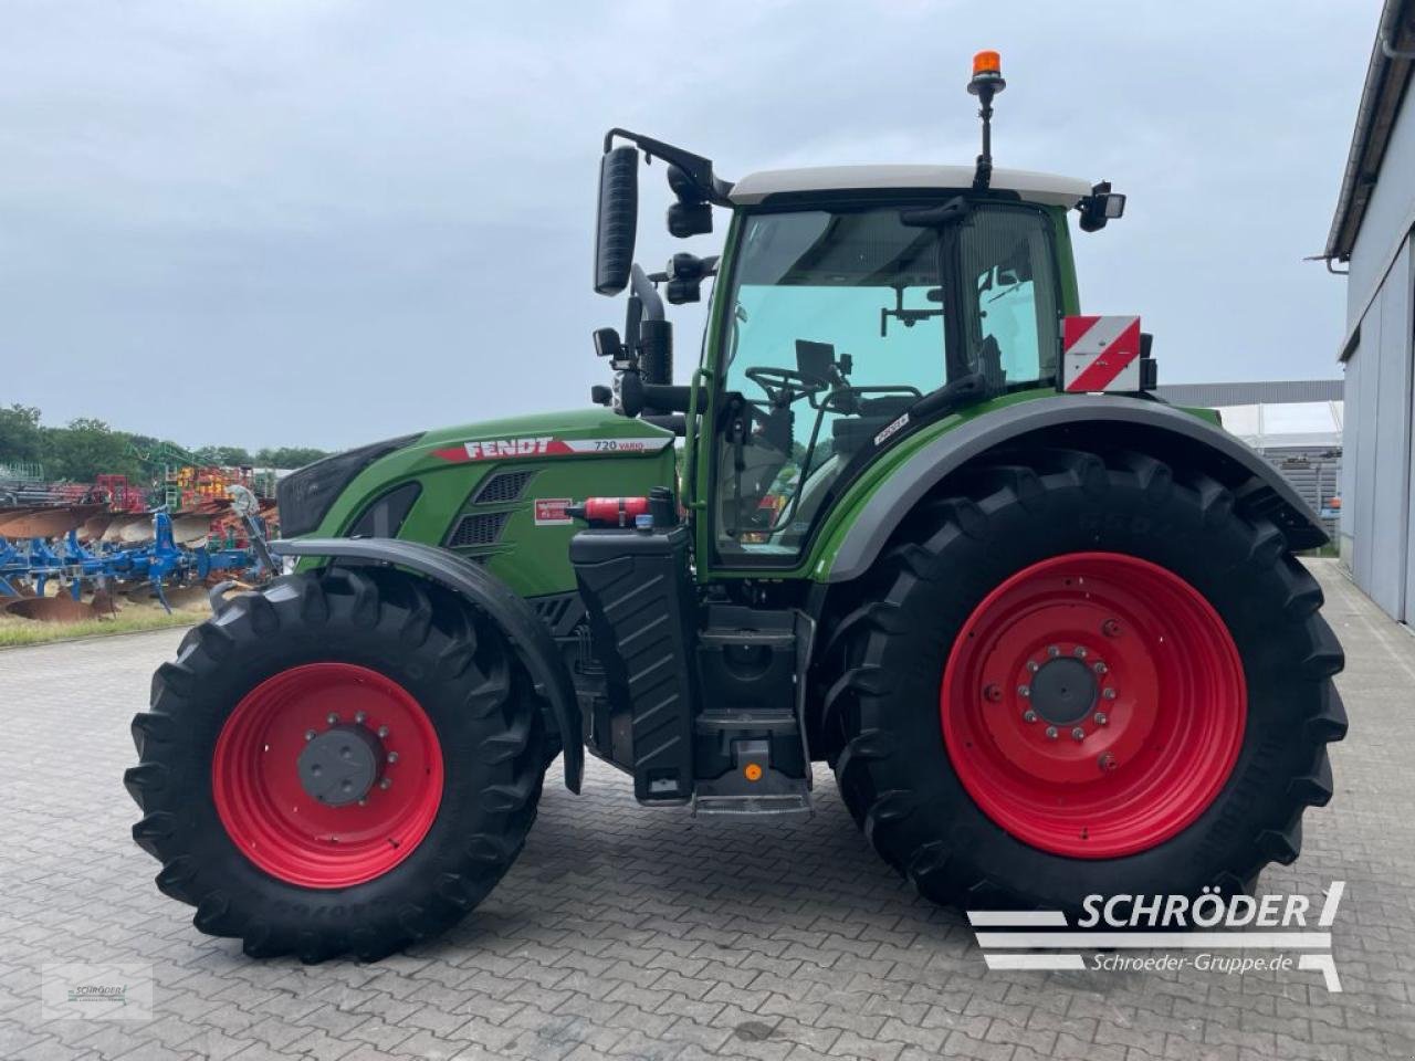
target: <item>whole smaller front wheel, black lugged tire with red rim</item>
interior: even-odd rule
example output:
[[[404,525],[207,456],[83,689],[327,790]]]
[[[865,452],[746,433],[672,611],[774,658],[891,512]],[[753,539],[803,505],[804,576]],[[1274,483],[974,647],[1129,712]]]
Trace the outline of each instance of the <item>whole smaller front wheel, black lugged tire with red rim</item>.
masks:
[[[376,961],[443,932],[519,854],[542,705],[454,594],[334,567],[232,598],[133,719],[133,839],[253,958]],[[323,787],[323,788],[321,788]]]

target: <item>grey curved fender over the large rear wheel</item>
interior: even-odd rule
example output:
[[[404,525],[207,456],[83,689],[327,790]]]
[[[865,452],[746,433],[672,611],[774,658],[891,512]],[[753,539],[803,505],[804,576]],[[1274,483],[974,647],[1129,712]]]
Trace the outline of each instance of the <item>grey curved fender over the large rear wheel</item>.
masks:
[[[825,581],[849,581],[869,570],[899,522],[944,477],[1026,434],[1084,429],[1109,444],[1157,457],[1184,458],[1230,487],[1238,502],[1261,512],[1286,535],[1290,549],[1327,540],[1316,514],[1292,484],[1242,441],[1207,420],[1162,402],[1119,396],[1056,396],[1003,406],[920,447],[870,494],[845,532]],[[1063,443],[1064,444],[1064,443]]]

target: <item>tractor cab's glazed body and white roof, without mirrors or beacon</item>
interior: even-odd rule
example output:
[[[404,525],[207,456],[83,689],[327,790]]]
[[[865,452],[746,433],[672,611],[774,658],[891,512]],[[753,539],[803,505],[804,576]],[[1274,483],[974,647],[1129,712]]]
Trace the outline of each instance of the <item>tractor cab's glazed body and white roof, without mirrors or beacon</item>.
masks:
[[[826,499],[930,405],[1054,379],[1058,249],[1070,256],[1057,215],[1090,188],[995,173],[1010,195],[975,198],[961,191],[971,180],[964,167],[859,167],[733,188],[732,270],[708,342],[726,420],[712,467],[724,562],[794,560]]]

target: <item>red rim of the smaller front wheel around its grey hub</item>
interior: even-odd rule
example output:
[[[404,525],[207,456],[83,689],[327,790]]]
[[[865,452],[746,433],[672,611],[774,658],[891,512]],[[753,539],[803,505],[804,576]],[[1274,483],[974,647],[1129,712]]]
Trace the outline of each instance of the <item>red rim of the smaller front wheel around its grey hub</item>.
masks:
[[[362,802],[331,806],[300,781],[310,734],[333,726],[365,727],[379,748]],[[427,835],[441,802],[441,746],[396,682],[352,663],[307,663],[242,697],[216,738],[211,782],[221,823],[250,862],[290,884],[342,888],[388,873]]]

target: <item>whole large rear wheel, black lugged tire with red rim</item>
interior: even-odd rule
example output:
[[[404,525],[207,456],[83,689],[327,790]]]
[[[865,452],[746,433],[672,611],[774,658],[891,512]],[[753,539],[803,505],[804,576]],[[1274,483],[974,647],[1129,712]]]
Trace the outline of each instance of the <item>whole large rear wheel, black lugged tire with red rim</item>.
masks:
[[[1282,532],[1138,453],[1005,454],[904,521],[833,634],[841,794],[937,903],[1251,891],[1332,796],[1341,648]]]

